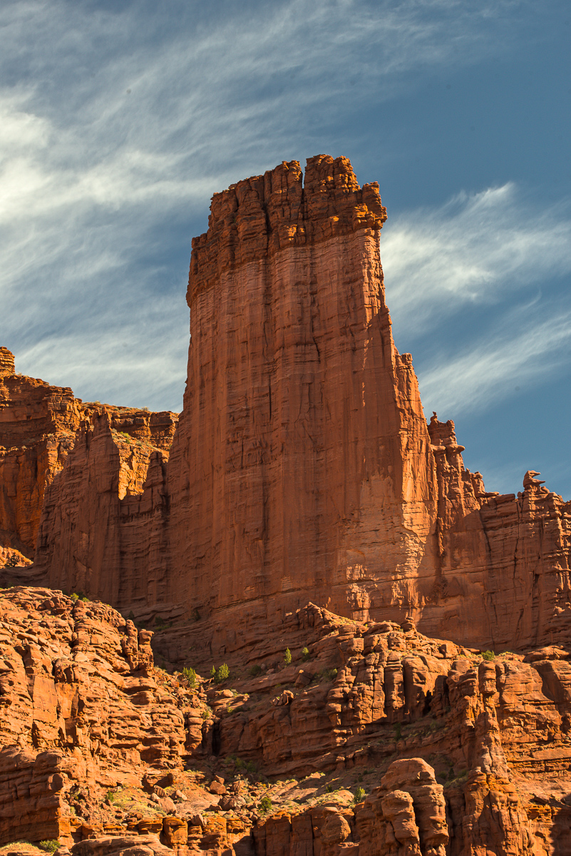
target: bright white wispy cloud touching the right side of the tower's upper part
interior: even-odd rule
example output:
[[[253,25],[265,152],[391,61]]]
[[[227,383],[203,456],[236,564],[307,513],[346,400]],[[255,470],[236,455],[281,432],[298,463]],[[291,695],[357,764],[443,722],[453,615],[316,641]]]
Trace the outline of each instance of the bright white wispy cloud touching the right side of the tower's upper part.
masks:
[[[389,221],[381,258],[397,323],[421,332],[462,306],[571,271],[569,207],[541,209],[509,183]]]

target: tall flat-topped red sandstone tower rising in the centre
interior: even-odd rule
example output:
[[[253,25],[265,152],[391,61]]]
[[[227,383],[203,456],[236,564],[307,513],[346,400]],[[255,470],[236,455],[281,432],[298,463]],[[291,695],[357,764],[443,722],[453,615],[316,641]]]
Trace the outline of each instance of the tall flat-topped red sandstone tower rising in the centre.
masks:
[[[192,244],[191,347],[169,467],[174,600],[201,614],[433,574],[436,482],[408,354],[392,342],[378,186],[297,162],[212,202]],[[404,584],[405,586],[407,584]]]

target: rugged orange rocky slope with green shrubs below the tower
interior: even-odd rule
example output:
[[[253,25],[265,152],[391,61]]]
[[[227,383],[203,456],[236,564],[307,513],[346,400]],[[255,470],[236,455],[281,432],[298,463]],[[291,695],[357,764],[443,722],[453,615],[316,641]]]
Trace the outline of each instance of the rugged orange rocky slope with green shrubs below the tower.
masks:
[[[262,662],[203,681],[157,668],[151,636],[103,603],[0,592],[0,844],[569,853],[567,651],[495,657],[310,604]]]

